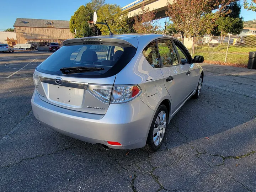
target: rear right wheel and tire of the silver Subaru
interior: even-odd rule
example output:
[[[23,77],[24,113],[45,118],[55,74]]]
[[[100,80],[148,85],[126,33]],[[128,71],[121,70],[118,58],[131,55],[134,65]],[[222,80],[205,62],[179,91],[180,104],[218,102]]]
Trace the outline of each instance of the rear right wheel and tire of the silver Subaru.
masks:
[[[146,145],[143,147],[146,151],[153,153],[161,147],[165,138],[167,123],[167,108],[165,105],[160,105],[151,123]]]

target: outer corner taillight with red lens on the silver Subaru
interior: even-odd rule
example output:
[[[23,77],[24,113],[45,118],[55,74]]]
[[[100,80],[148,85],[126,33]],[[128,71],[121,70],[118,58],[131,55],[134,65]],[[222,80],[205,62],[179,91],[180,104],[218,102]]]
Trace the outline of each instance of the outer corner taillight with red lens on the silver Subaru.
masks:
[[[124,103],[133,100],[141,93],[139,85],[115,85],[111,103]]]

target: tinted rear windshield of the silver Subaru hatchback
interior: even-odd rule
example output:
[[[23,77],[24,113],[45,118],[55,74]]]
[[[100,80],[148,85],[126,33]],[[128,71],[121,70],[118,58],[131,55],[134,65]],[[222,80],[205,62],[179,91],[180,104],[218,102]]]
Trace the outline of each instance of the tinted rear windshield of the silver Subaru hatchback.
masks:
[[[73,77],[108,77],[121,71],[134,57],[136,48],[127,44],[110,42],[86,44],[67,44],[57,50],[37,70],[47,74],[64,75],[60,68],[98,67],[100,71],[65,74]]]

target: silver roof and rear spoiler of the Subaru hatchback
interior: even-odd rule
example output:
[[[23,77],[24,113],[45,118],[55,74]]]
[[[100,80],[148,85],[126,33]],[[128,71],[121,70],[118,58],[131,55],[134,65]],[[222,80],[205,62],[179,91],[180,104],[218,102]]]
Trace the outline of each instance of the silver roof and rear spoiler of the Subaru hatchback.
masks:
[[[63,46],[68,43],[75,43],[81,41],[111,41],[111,42],[119,42],[130,44],[131,46],[137,48],[138,41],[142,41],[144,43],[149,43],[157,38],[174,38],[165,34],[139,34],[139,33],[127,33],[127,34],[114,34],[114,35],[101,35],[101,36],[93,36],[93,37],[84,37],[84,38],[75,38],[68,39],[63,42]]]

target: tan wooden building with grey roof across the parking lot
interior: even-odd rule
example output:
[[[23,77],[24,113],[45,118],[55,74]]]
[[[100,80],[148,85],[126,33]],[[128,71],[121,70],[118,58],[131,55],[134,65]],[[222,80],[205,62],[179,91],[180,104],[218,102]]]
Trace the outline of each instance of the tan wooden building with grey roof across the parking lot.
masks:
[[[36,43],[48,46],[50,42],[62,42],[74,38],[69,21],[17,18],[14,23],[17,43]]]

